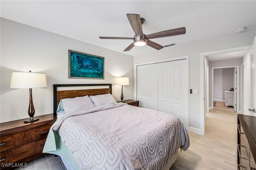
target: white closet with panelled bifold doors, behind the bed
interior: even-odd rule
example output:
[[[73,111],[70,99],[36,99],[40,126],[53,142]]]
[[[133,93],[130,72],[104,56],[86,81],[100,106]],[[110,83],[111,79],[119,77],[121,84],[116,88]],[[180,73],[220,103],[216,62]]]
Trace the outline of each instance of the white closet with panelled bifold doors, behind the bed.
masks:
[[[187,59],[137,66],[140,107],[164,111],[188,127]]]

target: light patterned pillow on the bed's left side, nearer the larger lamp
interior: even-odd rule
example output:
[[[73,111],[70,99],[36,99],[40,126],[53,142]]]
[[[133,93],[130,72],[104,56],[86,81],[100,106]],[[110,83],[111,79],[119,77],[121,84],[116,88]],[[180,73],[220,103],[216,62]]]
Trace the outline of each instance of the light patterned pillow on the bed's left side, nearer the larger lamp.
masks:
[[[93,104],[92,100],[88,95],[84,97],[62,99],[61,103],[66,113],[71,113],[74,111],[95,107],[95,105]]]

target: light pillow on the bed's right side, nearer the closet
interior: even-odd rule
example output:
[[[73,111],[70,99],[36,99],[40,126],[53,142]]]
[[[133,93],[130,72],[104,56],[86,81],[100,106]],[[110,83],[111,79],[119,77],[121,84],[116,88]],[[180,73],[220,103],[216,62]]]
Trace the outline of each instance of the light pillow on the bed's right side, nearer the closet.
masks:
[[[90,96],[95,106],[109,105],[116,103],[114,97],[109,94]]]

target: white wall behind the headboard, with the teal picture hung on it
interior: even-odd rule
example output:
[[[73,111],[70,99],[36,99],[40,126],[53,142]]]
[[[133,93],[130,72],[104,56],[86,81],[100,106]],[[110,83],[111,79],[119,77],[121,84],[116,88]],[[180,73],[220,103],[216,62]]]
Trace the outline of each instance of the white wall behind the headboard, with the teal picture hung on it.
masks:
[[[29,89],[10,89],[11,73],[46,73],[47,87],[33,89],[35,116],[53,113],[53,84],[112,83],[119,101],[116,77],[130,78],[124,99],[133,99],[133,57],[106,48],[1,18],[1,116],[0,122],[28,118]],[[85,30],[86,32],[86,30]],[[68,79],[68,49],[105,57],[105,79]]]

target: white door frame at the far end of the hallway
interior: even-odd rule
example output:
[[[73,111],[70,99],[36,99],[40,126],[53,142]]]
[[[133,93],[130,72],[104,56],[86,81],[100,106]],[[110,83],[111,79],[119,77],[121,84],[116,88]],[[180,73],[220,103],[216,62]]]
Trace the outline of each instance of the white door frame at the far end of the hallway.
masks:
[[[212,106],[211,109],[214,109],[213,107],[213,88],[214,88],[214,69],[225,69],[225,68],[236,68],[236,80],[237,80],[237,91],[236,91],[236,113],[239,113],[240,111],[240,70],[239,70],[239,65],[232,65],[232,66],[220,66],[220,67],[212,67]]]

